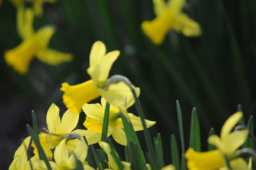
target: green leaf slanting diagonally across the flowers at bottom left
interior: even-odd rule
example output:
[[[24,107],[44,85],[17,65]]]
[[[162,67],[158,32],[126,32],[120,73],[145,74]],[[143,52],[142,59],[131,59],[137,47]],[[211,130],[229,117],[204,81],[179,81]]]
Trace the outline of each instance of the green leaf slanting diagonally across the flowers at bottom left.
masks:
[[[49,160],[46,157],[46,155],[44,153],[44,150],[43,150],[43,148],[42,148],[42,146],[40,144],[38,134],[36,134],[35,131],[28,124],[27,124],[27,129],[28,129],[28,132],[31,135],[33,141],[35,142],[35,145],[36,145],[36,148],[38,150],[38,155],[39,155],[40,160],[44,160],[47,168],[51,170],[52,168],[51,168],[51,166],[49,164]]]

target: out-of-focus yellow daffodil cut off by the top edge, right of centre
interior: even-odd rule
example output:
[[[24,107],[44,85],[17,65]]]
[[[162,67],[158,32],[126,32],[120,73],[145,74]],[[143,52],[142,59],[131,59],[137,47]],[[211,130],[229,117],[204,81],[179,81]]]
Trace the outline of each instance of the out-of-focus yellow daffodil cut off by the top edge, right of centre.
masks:
[[[182,13],[185,0],[168,0],[167,3],[164,0],[153,0],[153,3],[156,19],[141,24],[145,35],[152,42],[161,44],[170,29],[182,32],[185,36],[201,35],[199,24]]]

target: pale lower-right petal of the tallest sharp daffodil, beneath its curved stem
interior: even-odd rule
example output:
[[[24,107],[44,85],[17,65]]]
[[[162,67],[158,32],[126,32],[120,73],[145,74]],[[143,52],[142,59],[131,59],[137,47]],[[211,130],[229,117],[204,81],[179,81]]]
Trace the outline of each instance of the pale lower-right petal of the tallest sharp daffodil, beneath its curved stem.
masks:
[[[99,88],[98,91],[102,97],[106,98],[109,104],[115,106],[122,112],[126,112],[126,99],[133,97],[131,89],[124,82],[111,84],[108,90]]]

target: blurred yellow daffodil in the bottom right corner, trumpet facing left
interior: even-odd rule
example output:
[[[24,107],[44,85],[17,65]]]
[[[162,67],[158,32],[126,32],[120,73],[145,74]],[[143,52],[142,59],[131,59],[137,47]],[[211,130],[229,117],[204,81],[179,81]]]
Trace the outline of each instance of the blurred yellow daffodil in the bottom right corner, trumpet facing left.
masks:
[[[236,112],[224,123],[220,137],[211,135],[208,143],[214,144],[218,149],[205,152],[196,152],[193,148],[186,151],[187,166],[189,169],[220,169],[226,168],[225,159],[232,169],[248,169],[243,158],[237,158],[236,150],[246,141],[248,130],[231,132],[237,122],[242,118],[242,112]]]

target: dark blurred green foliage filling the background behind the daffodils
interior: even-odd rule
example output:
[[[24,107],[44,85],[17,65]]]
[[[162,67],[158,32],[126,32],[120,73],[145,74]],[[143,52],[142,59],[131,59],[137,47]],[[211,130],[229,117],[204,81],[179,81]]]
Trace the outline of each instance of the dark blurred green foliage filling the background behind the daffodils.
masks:
[[[1,116],[14,113],[3,116],[2,126],[13,125],[8,121],[13,122],[20,115],[30,117],[28,109],[21,109],[24,105],[29,105],[30,110],[39,107],[43,116],[51,103],[61,105],[61,82],[77,84],[88,80],[90,48],[101,40],[109,51],[121,51],[111,75],[125,75],[141,88],[145,116],[157,121],[150,131],[153,136],[161,133],[163,148],[170,148],[170,134],[179,136],[176,99],[182,104],[185,148],[189,146],[186,141],[193,106],[197,109],[202,141],[206,141],[211,127],[219,134],[228,115],[236,112],[237,104],[243,105],[245,120],[256,111],[255,9],[254,0],[187,1],[184,12],[200,24],[202,36],[186,38],[170,31],[163,45],[156,46],[140,27],[143,20],[155,17],[152,1],[64,0],[45,4],[44,15],[35,19],[35,29],[54,25],[56,33],[49,46],[74,54],[74,61],[49,66],[34,59],[27,75],[22,76],[3,59],[5,50],[21,42],[16,29],[17,10],[4,1],[0,7],[0,109]],[[15,122],[13,127],[5,127],[8,130],[1,130],[9,140],[17,128],[24,128],[19,137],[26,133],[24,123]],[[17,147],[13,148],[14,153]],[[10,161],[12,155],[6,160]]]

